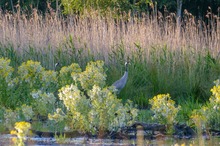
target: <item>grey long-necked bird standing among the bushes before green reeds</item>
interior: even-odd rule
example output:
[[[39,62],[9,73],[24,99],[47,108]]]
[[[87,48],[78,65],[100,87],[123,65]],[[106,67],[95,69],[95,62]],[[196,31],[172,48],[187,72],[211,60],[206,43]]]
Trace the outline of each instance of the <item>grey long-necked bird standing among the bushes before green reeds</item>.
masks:
[[[117,93],[119,93],[126,85],[127,80],[128,80],[128,62],[125,62],[125,72],[124,75],[117,80],[116,82],[114,82],[112,84],[112,86],[115,87],[115,89],[117,90]]]

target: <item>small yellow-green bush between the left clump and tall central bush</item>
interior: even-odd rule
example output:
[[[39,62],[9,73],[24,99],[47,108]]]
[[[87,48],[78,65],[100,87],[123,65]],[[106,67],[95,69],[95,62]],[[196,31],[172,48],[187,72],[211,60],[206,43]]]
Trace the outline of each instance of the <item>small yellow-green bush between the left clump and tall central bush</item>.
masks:
[[[73,81],[76,81],[75,79],[78,78],[78,74],[81,71],[80,66],[76,63],[72,63],[70,66],[62,67],[59,74],[60,86],[63,87],[65,85],[70,85]]]

